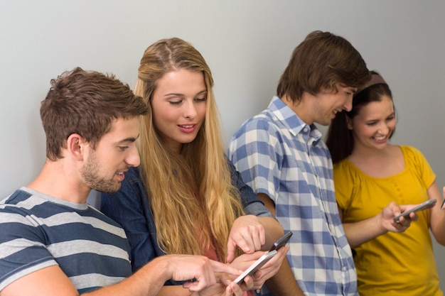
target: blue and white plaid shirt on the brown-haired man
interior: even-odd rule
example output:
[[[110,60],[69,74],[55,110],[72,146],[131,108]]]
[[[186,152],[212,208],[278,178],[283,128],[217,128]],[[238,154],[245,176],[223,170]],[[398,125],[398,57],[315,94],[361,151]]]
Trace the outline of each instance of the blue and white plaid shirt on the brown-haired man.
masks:
[[[275,203],[288,260],[305,295],[358,295],[353,256],[338,215],[331,155],[315,125],[281,99],[242,124],[229,158],[254,192]],[[267,295],[263,288],[262,295]]]

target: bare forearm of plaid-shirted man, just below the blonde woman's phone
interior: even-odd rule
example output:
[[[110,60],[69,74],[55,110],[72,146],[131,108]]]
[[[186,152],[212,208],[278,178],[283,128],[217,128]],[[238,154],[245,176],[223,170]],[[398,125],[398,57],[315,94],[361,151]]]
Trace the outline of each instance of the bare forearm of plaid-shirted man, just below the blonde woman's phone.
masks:
[[[283,260],[278,273],[266,281],[266,285],[273,295],[304,296],[294,278],[294,274],[287,259]]]

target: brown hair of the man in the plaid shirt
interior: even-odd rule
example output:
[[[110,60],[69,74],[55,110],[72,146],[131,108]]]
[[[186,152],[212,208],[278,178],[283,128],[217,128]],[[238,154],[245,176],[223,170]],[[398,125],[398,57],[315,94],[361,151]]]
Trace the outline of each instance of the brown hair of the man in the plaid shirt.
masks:
[[[333,33],[313,31],[294,49],[279,80],[277,95],[281,98],[286,94],[296,102],[303,92],[336,90],[337,84],[360,87],[369,79],[365,61],[348,40]]]

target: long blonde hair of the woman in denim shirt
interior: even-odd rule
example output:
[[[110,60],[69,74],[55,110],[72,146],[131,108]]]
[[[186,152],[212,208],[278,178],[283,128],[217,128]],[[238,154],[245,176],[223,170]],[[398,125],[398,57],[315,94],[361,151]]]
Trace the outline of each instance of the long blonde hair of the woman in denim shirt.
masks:
[[[202,72],[208,94],[204,124],[178,154],[168,149],[156,131],[151,99],[156,82],[180,69]],[[134,90],[149,106],[149,114],[141,117],[139,170],[160,248],[166,253],[203,255],[203,247],[213,246],[224,259],[233,221],[244,212],[240,194],[231,183],[212,87],[210,68],[190,43],[163,39],[145,50]]]

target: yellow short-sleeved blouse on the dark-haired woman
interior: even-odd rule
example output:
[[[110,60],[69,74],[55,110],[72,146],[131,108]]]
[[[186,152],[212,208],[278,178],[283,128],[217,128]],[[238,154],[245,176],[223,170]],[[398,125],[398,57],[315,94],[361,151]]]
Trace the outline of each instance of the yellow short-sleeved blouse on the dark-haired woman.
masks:
[[[334,184],[343,223],[382,212],[390,202],[419,204],[429,197],[436,175],[416,148],[400,146],[405,168],[390,177],[370,177],[349,160],[334,165]],[[429,210],[403,233],[388,232],[355,248],[361,296],[439,296],[439,276],[429,234]]]

